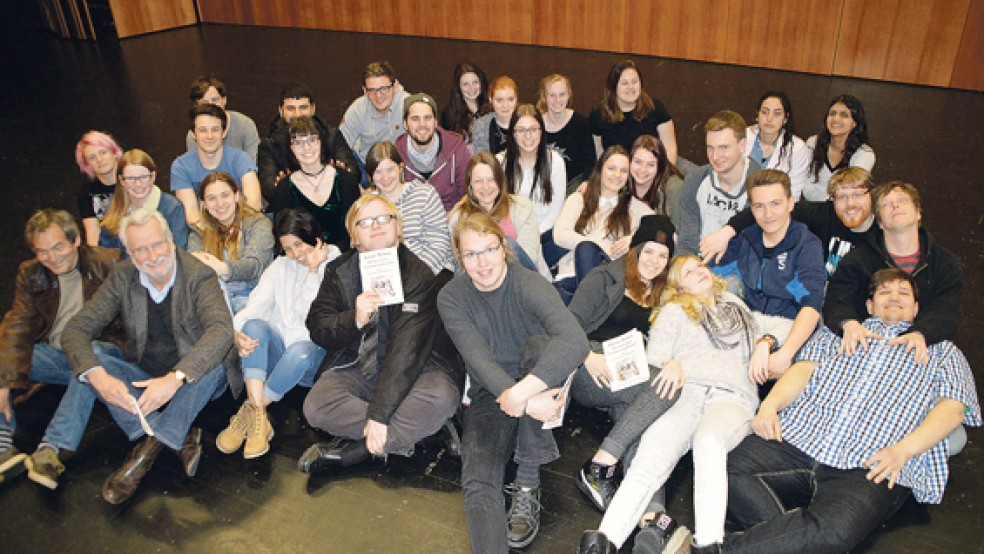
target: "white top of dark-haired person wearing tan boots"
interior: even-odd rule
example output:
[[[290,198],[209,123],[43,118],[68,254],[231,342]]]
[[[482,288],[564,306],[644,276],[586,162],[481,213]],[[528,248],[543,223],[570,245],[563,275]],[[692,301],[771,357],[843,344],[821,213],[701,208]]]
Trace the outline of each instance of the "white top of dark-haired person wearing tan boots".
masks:
[[[337,256],[338,251],[334,250],[328,258],[331,260]],[[237,331],[242,331],[247,321],[266,321],[280,333],[284,348],[295,342],[310,341],[311,334],[304,321],[311,309],[311,302],[321,289],[329,260],[318,267],[317,273],[311,273],[306,266],[287,256],[278,256],[260,276],[260,282],[250,293],[246,307],[232,318],[233,326]]]

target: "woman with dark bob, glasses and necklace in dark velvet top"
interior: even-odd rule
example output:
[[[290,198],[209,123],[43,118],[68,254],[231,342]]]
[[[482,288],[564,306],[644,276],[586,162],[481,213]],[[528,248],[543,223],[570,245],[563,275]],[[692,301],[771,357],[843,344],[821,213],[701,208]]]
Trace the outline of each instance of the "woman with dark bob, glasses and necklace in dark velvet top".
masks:
[[[287,136],[284,157],[290,176],[277,187],[270,211],[276,217],[285,208],[304,208],[317,218],[321,240],[345,252],[349,249],[345,214],[361,194],[358,181],[332,165],[324,149],[331,138],[311,116],[291,119]]]

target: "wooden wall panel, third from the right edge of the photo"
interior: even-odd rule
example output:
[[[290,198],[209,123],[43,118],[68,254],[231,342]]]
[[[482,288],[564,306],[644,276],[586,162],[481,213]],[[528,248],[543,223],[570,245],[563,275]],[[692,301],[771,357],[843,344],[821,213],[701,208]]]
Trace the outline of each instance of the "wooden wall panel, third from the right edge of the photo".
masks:
[[[842,0],[731,0],[727,63],[829,74]]]

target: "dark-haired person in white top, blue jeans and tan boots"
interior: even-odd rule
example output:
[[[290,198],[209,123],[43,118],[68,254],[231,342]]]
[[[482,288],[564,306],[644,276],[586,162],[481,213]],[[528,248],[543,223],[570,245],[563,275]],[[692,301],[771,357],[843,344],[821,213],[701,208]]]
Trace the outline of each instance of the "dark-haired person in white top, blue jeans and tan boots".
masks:
[[[243,457],[266,454],[273,427],[266,407],[278,402],[298,383],[310,387],[325,351],[311,341],[305,319],[318,295],[328,262],[341,253],[321,240],[321,228],[310,212],[287,208],[277,214],[274,237],[284,249],[267,267],[249,295],[246,307],[232,320],[236,348],[242,358],[246,402],[215,446]]]

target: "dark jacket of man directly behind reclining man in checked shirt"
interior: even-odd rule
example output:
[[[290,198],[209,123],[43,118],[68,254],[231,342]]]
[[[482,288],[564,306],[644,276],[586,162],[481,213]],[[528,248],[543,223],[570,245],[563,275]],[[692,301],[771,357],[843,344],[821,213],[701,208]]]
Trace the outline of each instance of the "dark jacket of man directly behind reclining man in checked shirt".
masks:
[[[885,247],[884,233],[878,229],[841,260],[830,278],[823,306],[825,324],[842,334],[845,321],[864,322],[868,318],[868,281],[876,271],[887,267],[897,266]],[[912,276],[919,289],[919,313],[906,333],[919,331],[926,344],[952,340],[963,305],[963,265],[953,253],[936,244],[923,227],[919,228],[919,264]]]

